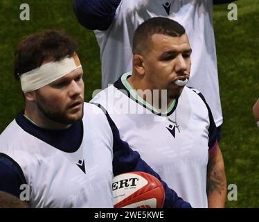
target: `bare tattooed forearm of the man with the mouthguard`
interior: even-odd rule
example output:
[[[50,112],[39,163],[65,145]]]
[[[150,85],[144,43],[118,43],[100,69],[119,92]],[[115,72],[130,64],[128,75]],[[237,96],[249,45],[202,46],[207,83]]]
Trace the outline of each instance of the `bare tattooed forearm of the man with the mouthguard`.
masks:
[[[207,196],[209,208],[225,207],[226,175],[224,160],[219,147],[208,161]]]

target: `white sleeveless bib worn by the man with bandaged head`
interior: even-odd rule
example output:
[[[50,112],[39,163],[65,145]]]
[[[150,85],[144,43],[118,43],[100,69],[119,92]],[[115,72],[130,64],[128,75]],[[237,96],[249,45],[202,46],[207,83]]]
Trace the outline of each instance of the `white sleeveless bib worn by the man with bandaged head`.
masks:
[[[113,136],[102,110],[84,103],[82,143],[73,152],[28,133],[22,118],[0,135],[0,153],[21,167],[30,187],[31,207],[113,207]]]

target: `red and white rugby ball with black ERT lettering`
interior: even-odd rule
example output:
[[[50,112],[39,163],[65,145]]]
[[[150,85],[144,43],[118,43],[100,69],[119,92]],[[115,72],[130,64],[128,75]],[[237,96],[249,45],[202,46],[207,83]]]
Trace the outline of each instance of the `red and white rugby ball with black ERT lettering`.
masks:
[[[165,190],[149,173],[130,172],[115,176],[112,182],[114,208],[161,208]]]

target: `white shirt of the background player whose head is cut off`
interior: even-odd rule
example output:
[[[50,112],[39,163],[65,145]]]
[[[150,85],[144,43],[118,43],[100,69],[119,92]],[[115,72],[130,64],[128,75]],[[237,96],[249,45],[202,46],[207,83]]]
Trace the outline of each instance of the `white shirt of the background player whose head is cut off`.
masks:
[[[223,118],[211,0],[122,0],[107,31],[95,31],[102,62],[102,88],[132,70],[134,31],[145,20],[157,16],[174,19],[186,28],[193,49],[188,86],[202,92],[216,126],[220,126]]]

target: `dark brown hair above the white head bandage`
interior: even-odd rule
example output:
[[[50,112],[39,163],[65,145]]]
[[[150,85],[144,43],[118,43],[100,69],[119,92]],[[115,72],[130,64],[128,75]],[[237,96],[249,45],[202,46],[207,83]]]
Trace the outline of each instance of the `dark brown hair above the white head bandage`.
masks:
[[[15,77],[40,67],[46,60],[57,62],[76,52],[75,41],[61,31],[46,30],[28,35],[15,52]]]

